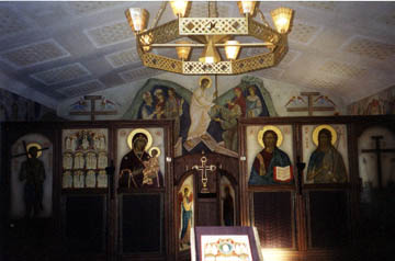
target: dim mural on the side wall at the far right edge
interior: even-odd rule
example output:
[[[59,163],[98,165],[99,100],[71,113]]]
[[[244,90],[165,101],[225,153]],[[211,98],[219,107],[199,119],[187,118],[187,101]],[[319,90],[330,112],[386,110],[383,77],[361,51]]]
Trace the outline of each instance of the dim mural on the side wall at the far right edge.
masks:
[[[395,114],[395,86],[348,106],[351,115]]]

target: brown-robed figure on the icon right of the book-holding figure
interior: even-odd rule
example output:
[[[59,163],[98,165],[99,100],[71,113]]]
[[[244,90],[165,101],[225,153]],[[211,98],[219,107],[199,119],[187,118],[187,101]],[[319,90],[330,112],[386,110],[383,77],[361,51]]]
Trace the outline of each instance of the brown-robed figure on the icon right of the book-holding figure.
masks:
[[[341,154],[332,146],[335,129],[318,132],[318,147],[309,157],[307,181],[313,183],[343,183],[347,171]]]

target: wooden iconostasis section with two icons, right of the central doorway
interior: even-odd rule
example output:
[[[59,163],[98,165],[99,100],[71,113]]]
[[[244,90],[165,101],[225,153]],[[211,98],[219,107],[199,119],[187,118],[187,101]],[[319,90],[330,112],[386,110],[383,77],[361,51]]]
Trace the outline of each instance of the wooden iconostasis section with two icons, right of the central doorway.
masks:
[[[297,118],[240,122],[241,157],[246,157],[241,163],[250,194],[246,198],[249,224],[257,227],[262,248],[308,250],[348,246],[349,159],[353,156],[349,148],[349,122],[312,120],[304,124]],[[305,168],[298,170],[298,163],[305,163]],[[339,213],[336,218],[334,213]]]

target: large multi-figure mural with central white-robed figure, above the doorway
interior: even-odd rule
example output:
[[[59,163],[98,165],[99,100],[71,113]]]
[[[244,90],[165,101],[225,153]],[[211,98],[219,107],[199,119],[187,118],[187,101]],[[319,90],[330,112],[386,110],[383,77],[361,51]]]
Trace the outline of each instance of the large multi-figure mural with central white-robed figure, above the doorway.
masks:
[[[149,79],[123,118],[173,118],[176,156],[211,150],[237,157],[237,118],[276,113],[259,78],[246,76],[219,97],[216,89],[206,76],[193,92],[168,80]]]

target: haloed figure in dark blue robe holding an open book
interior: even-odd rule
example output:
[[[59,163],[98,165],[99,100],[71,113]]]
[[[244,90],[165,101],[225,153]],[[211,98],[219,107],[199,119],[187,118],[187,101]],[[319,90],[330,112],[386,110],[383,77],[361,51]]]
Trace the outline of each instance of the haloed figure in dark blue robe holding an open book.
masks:
[[[290,157],[278,148],[282,139],[281,130],[275,126],[266,126],[259,132],[258,141],[263,149],[253,160],[248,184],[267,185],[292,182]]]

